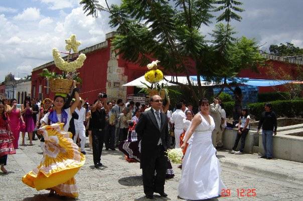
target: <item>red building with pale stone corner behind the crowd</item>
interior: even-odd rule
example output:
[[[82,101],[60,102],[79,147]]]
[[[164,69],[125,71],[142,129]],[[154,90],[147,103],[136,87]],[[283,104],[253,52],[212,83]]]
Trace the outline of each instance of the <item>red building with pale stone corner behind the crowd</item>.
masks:
[[[84,65],[79,69],[80,77],[83,81],[80,96],[83,99],[87,98],[90,103],[96,99],[97,93],[101,91],[106,92],[111,99],[125,99],[127,94],[134,92],[134,87],[124,87],[121,85],[142,76],[147,70],[145,67],[140,67],[137,64],[122,59],[119,55],[115,55],[113,51],[114,47],[110,43],[110,38],[113,37],[114,33],[107,33],[105,41],[79,51],[80,53],[85,53],[87,57]],[[264,54],[264,56],[271,55]],[[267,62],[272,63],[273,68],[278,69],[281,67],[295,75],[295,71],[292,71],[292,66],[296,66],[296,64],[289,64],[289,62],[282,61],[283,58],[276,56],[271,56],[269,59]],[[299,64],[303,64],[303,62],[300,61]],[[48,68],[50,71],[60,71],[55,66],[54,61],[34,68],[32,71],[32,96],[41,99],[46,97],[53,98],[54,93],[47,87],[47,79],[39,75],[43,68]],[[195,72],[191,73],[192,75],[195,74]],[[273,78],[268,75],[266,68],[259,68],[259,73],[242,70],[239,76],[262,79]],[[271,87],[260,87],[260,91],[262,92],[270,90],[272,90]]]

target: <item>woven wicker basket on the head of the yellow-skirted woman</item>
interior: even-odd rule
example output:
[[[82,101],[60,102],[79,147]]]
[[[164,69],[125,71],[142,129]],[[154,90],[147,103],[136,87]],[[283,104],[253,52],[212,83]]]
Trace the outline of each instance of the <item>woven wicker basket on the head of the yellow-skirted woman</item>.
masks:
[[[50,79],[50,89],[55,93],[70,93],[73,82],[71,79],[52,78]]]

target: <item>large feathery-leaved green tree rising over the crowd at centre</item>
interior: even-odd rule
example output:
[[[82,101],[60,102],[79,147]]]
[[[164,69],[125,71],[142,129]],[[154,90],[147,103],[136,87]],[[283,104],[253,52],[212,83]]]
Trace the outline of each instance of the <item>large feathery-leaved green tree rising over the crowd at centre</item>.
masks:
[[[189,85],[176,79],[172,81],[188,87],[195,101],[198,96],[190,79],[190,68],[195,68],[198,94],[204,95],[201,76],[207,80],[221,81],[232,78],[243,67],[254,66],[261,61],[256,56],[256,43],[247,38],[236,39],[232,20],[241,20],[236,12],[244,11],[236,0],[122,0],[120,5],[102,7],[98,0],[82,0],[84,12],[96,16],[97,11],[110,13],[110,26],[118,34],[112,40],[117,54],[128,61],[146,65],[151,59],[161,60],[165,71],[186,74]],[[218,5],[218,6],[217,6]],[[222,12],[211,33],[212,41],[201,34],[215,17]],[[202,26],[203,25],[203,26]],[[240,45],[242,44],[242,46]],[[250,46],[246,46],[246,45]],[[240,55],[236,55],[239,54]],[[237,59],[236,62],[233,59]]]

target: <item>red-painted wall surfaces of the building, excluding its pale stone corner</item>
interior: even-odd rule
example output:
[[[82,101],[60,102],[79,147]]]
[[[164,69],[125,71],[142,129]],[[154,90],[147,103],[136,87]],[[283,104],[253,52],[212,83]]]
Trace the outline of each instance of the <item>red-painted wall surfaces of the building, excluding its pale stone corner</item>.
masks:
[[[110,39],[108,39],[108,46],[102,49],[95,50],[93,52],[86,53],[86,59],[84,61],[84,65],[79,69],[80,77],[83,81],[81,86],[80,96],[83,99],[88,99],[90,103],[92,103],[97,96],[97,93],[104,91],[106,92],[106,79],[107,79],[107,62],[110,56]],[[283,71],[292,75],[294,79],[296,79],[295,64],[289,64],[286,62],[269,60],[266,61],[267,64],[271,64],[274,69],[279,70],[279,68],[283,69]],[[160,63],[161,64],[161,63]],[[190,60],[189,64],[192,66],[195,63]],[[131,81],[142,76],[147,70],[146,67],[140,67],[138,64],[128,62],[122,58],[122,55],[119,55],[118,58],[118,66],[124,67],[124,75],[127,75],[127,81]],[[60,72],[60,70],[55,66],[51,65],[47,67],[50,71]],[[242,70],[238,76],[239,77],[249,77],[256,79],[274,79],[268,75],[268,68],[258,67],[259,72],[253,72],[249,69]],[[32,91],[34,97],[39,97],[39,85],[46,86],[46,79],[41,77],[39,73],[42,72],[42,69],[32,72],[32,90],[33,86],[36,86],[36,90]],[[189,72],[191,75],[195,75],[195,67],[190,67]],[[165,72],[167,75],[171,75],[172,72]],[[176,75],[176,74],[174,74]],[[184,73],[178,73],[179,76],[185,75]],[[281,90],[283,86],[278,86]],[[46,93],[46,88],[42,88],[43,98],[49,97],[53,98],[54,93],[49,91],[49,94]],[[134,91],[134,87],[127,87],[127,94],[131,94]],[[274,91],[274,89],[269,87],[259,87],[260,92],[268,92]],[[126,97],[122,97],[126,98]]]

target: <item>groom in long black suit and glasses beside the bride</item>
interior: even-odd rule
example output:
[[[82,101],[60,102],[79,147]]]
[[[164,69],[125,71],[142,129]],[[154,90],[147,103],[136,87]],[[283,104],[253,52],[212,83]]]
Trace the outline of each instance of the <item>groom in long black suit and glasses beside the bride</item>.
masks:
[[[168,118],[161,112],[162,101],[159,95],[151,97],[151,109],[141,113],[135,128],[142,139],[140,168],[142,168],[144,193],[149,199],[154,198],[154,192],[167,196],[164,192],[168,160],[165,151],[169,148],[170,140]]]

